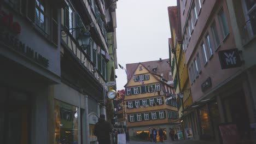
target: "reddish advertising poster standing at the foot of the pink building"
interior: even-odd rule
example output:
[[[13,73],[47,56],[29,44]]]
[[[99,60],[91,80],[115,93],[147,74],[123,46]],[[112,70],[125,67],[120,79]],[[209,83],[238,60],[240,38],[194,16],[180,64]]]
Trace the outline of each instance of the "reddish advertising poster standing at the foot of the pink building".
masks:
[[[236,124],[226,123],[219,125],[219,132],[222,136],[223,144],[233,144],[239,140],[239,134]]]

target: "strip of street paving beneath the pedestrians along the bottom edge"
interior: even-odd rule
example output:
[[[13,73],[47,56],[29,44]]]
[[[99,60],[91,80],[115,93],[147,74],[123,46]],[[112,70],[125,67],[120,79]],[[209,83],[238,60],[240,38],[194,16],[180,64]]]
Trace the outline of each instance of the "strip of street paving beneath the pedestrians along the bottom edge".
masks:
[[[146,144],[146,143],[153,143],[149,141],[138,141],[138,140],[131,140],[130,144]],[[209,141],[199,141],[199,140],[178,140],[178,141],[164,141],[164,142],[157,142],[157,143],[165,143],[165,144],[218,144],[218,142],[209,142]]]

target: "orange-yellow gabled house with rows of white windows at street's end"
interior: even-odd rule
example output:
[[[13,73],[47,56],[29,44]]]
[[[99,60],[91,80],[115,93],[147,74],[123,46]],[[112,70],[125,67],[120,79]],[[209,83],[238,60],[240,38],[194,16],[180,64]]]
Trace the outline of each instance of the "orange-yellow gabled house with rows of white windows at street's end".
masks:
[[[153,128],[162,128],[167,135],[171,129],[179,130],[178,122],[170,123],[178,118],[178,112],[174,100],[166,97],[174,93],[173,87],[167,84],[172,81],[167,61],[160,58],[159,61],[126,64],[125,103],[130,136],[149,133]]]

